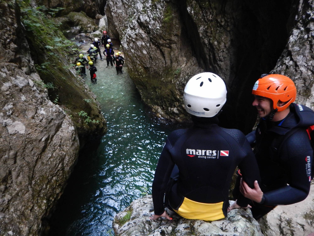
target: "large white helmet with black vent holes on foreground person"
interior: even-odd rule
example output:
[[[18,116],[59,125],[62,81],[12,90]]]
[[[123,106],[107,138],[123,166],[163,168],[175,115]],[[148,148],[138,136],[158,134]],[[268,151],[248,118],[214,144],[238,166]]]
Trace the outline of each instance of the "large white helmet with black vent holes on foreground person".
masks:
[[[227,98],[225,82],[217,75],[204,72],[193,76],[184,88],[183,101],[188,113],[213,117],[221,110]]]

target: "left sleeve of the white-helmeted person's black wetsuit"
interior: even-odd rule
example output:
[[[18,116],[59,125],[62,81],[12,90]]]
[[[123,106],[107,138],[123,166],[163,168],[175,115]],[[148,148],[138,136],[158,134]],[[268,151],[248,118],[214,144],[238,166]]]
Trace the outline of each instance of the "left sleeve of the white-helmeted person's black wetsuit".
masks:
[[[164,195],[167,183],[169,181],[171,171],[175,165],[171,159],[169,150],[171,144],[167,138],[164,148],[162,149],[160,158],[155,171],[155,177],[152,186],[152,195],[154,203],[155,215],[162,215],[164,213]]]

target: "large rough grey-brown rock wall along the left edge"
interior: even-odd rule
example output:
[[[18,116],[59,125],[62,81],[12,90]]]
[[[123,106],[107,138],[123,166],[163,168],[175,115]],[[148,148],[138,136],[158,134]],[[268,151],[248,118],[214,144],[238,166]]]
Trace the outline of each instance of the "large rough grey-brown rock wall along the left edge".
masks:
[[[0,232],[38,235],[77,159],[78,135],[47,90],[37,88],[17,3],[0,8]]]

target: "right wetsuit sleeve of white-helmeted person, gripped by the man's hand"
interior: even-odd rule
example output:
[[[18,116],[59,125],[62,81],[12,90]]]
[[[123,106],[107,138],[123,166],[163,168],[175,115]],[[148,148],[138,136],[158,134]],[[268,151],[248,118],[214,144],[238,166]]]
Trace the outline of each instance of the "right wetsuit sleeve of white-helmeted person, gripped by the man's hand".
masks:
[[[242,146],[242,150],[246,153],[246,156],[239,164],[242,178],[250,188],[254,188],[254,181],[257,180],[258,183],[261,183],[261,177],[259,174],[259,169],[257,166],[255,155],[247,139],[245,140]],[[250,201],[251,201],[250,199],[245,198],[240,193],[237,199],[237,204],[241,207],[246,207]]]

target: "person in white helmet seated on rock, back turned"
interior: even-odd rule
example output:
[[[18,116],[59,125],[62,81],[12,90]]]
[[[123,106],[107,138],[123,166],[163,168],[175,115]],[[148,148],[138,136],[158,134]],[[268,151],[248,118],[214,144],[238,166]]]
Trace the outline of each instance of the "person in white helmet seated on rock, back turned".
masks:
[[[154,215],[150,219],[171,219],[164,209],[168,206],[187,219],[222,219],[227,216],[228,193],[236,166],[240,166],[243,178],[252,188],[254,181],[260,180],[245,135],[218,126],[217,116],[226,95],[224,81],[213,73],[198,74],[187,82],[183,100],[194,124],[192,128],[173,131],[165,142],[152,186]],[[169,184],[174,166],[179,174]],[[242,196],[237,202],[247,207],[248,201]]]

